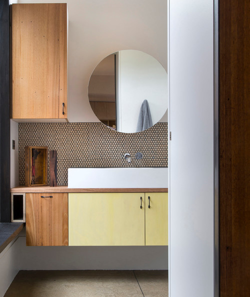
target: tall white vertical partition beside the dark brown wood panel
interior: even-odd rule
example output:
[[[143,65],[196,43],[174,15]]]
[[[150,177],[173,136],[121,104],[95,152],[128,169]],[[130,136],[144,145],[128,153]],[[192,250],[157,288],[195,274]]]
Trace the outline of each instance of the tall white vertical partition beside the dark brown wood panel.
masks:
[[[213,296],[213,0],[169,0],[170,297]]]

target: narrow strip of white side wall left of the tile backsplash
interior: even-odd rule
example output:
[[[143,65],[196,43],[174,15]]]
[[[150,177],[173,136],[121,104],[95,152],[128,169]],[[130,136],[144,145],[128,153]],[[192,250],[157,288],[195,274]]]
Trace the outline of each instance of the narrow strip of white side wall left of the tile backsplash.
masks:
[[[15,149],[12,149],[15,140]],[[10,187],[18,185],[18,123],[10,119]]]

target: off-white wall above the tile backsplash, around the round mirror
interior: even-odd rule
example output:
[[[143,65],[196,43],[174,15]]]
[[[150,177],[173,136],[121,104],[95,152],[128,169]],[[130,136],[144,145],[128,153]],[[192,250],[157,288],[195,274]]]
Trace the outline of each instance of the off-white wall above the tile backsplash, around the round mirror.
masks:
[[[108,54],[137,49],[152,55],[167,68],[166,0],[17,2],[67,2],[70,122],[99,121],[88,102],[87,86],[93,69]]]

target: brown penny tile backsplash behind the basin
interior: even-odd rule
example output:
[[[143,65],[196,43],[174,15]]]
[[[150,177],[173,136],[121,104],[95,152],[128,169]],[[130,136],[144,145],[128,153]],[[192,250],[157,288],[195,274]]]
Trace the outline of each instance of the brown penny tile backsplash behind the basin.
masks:
[[[24,147],[57,151],[57,185],[67,185],[69,167],[167,167],[167,123],[139,133],[120,133],[102,123],[19,123],[19,185],[24,185]],[[124,154],[129,152],[131,163]],[[142,159],[135,159],[141,152]],[[49,182],[49,153],[48,153]]]

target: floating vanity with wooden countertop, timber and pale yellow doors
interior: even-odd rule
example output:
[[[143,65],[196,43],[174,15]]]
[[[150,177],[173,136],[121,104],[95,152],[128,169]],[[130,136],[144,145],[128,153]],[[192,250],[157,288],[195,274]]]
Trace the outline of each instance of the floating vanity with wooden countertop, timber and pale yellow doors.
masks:
[[[167,188],[14,187],[26,245],[167,245]],[[150,206],[150,207],[148,207]]]

